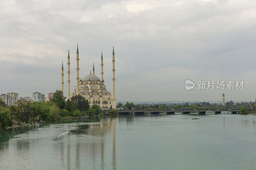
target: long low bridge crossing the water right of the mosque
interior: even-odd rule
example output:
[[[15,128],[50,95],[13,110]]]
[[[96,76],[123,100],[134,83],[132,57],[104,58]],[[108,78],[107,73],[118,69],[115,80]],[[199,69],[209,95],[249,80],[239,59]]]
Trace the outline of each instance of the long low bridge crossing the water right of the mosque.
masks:
[[[118,115],[128,115],[128,114],[170,114],[174,115],[176,113],[190,114],[197,113],[199,115],[205,115],[206,112],[214,112],[214,114],[221,114],[221,112],[231,112],[231,114],[237,114],[238,109],[217,109],[217,110],[117,110]]]

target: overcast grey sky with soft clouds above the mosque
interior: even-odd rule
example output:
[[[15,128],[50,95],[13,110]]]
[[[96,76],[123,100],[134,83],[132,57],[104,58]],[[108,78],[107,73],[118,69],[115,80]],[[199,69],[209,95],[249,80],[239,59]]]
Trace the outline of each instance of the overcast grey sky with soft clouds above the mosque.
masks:
[[[67,96],[79,76],[100,77],[112,92],[115,46],[117,101],[255,100],[255,0],[0,1],[0,93]],[[186,91],[184,82],[244,80],[243,90]]]

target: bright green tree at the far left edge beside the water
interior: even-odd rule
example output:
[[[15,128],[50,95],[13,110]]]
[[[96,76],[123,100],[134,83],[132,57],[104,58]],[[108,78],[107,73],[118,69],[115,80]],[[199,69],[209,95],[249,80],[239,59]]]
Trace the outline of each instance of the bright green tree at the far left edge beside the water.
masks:
[[[5,130],[8,126],[12,126],[10,109],[0,107],[0,129]]]

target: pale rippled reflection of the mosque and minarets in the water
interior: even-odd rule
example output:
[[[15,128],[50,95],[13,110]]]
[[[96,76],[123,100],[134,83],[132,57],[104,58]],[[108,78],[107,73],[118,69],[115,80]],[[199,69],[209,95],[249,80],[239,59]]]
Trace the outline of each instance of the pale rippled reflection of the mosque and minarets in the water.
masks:
[[[91,160],[91,166],[93,169],[106,169],[106,153],[105,153],[105,135],[112,131],[112,156],[111,166],[112,169],[116,169],[116,117],[102,116],[99,122],[88,122],[88,124],[79,125],[76,130],[71,130],[72,134],[76,134],[76,140],[72,141],[68,136],[67,139],[67,152],[65,153],[65,143],[61,143],[60,146],[60,160],[62,168],[73,169],[71,164],[75,163],[76,169],[84,169],[81,166],[84,162],[81,162],[81,158],[86,155],[87,160]],[[82,143],[78,137],[81,135],[90,135],[96,137],[96,140],[90,143]],[[99,140],[97,140],[99,138]],[[75,148],[72,147],[72,143],[75,143]],[[72,152],[75,155],[73,156]],[[72,151],[73,150],[73,151]],[[66,161],[65,161],[66,157]],[[74,160],[75,162],[71,161]],[[99,164],[98,164],[99,163]]]

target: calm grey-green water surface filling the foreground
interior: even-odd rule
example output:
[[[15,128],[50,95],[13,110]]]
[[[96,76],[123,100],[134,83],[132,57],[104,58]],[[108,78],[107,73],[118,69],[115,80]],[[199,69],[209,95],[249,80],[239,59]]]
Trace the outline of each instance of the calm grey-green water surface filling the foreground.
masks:
[[[196,116],[100,116],[1,131],[0,169],[256,169],[255,115]]]

